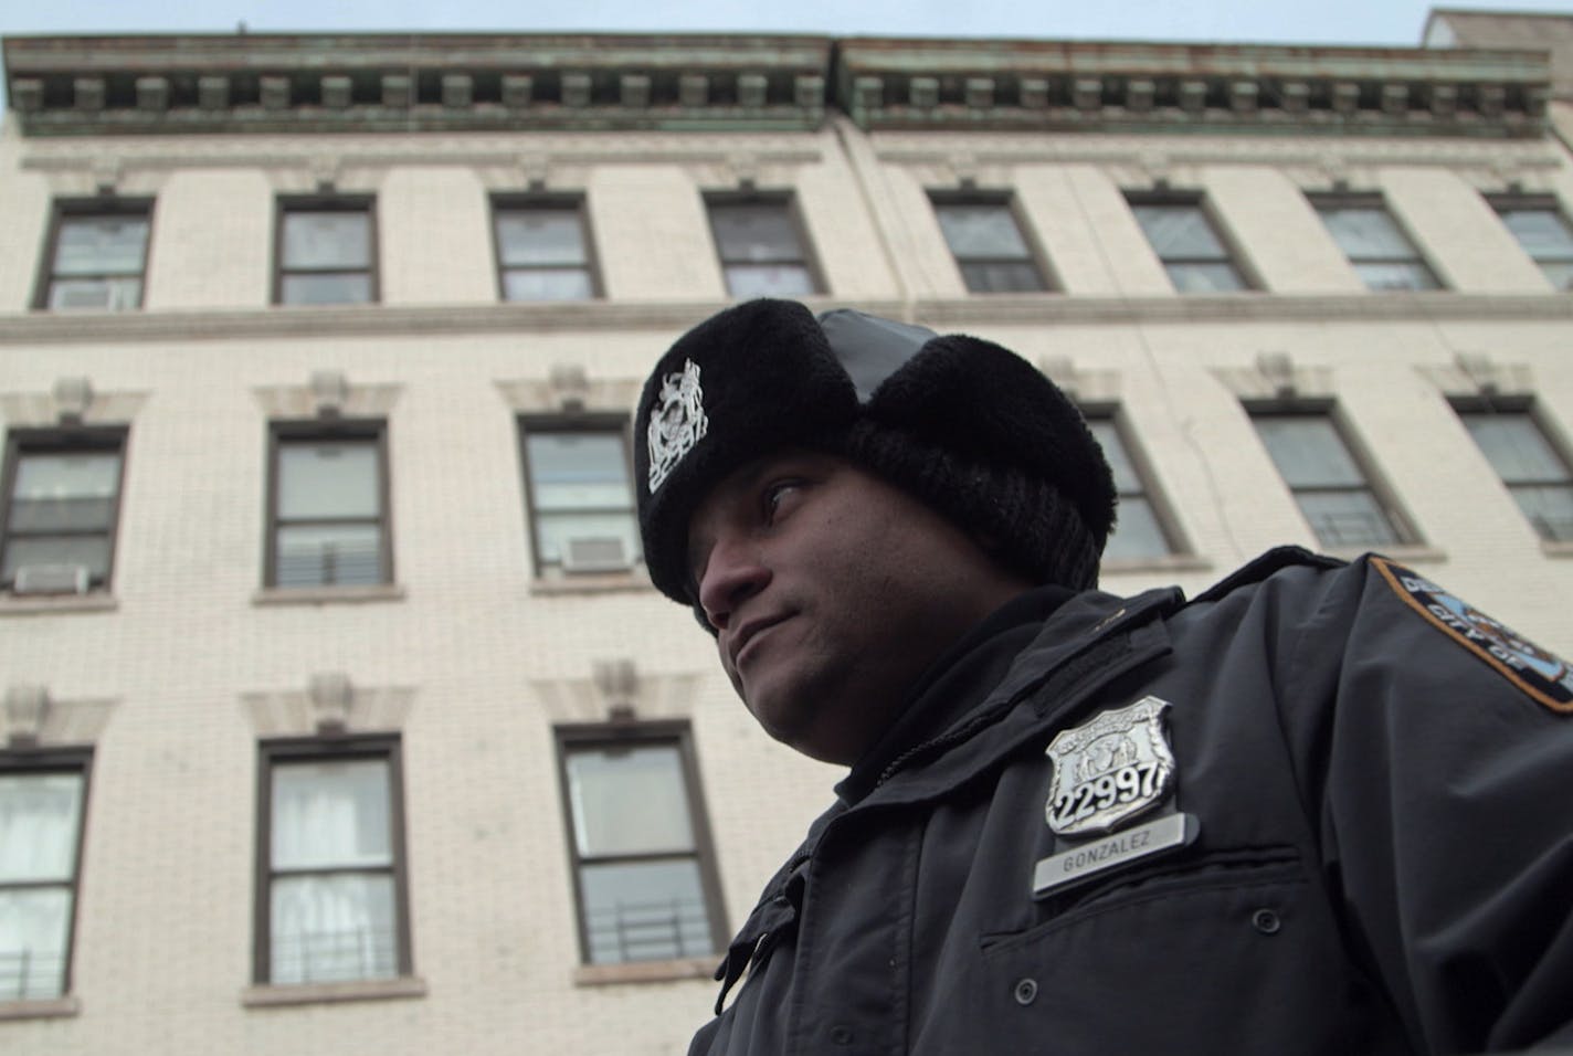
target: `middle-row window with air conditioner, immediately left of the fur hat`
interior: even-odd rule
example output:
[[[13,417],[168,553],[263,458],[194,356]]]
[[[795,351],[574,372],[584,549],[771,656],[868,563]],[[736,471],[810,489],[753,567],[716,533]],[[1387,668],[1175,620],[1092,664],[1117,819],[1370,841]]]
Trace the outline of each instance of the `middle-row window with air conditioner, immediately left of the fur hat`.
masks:
[[[623,422],[521,422],[535,568],[624,571],[639,560]]]

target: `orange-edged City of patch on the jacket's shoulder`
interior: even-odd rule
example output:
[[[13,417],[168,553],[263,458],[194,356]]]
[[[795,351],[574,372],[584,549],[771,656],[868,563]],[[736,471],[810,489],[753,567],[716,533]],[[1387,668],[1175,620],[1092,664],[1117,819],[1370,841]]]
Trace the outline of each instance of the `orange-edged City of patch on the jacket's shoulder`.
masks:
[[[1403,601],[1436,630],[1494,667],[1531,700],[1573,714],[1573,667],[1455,593],[1386,557],[1372,557]]]

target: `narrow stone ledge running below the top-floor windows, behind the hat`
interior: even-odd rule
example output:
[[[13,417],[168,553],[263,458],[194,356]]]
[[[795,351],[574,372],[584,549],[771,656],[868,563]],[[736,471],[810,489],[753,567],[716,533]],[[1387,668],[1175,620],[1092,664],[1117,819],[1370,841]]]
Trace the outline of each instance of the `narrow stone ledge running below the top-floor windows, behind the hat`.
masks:
[[[0,356],[36,345],[123,345],[127,342],[335,337],[455,337],[466,334],[543,334],[552,330],[661,332],[694,326],[727,301],[492,304],[455,308],[351,305],[321,308],[231,308],[201,312],[102,312],[0,316]],[[807,299],[815,312],[846,307]],[[1403,321],[1568,321],[1573,296],[1485,293],[1350,293],[1214,296],[991,294],[917,301],[862,301],[851,307],[928,326],[1049,326],[1133,323],[1403,323]]]

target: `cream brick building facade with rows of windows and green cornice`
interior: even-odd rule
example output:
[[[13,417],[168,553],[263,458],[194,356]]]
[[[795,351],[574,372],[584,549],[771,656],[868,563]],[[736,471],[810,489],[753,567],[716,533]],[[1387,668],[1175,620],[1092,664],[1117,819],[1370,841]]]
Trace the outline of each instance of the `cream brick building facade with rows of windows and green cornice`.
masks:
[[[5,66],[8,1053],[684,1051],[837,777],[640,568],[639,386],[736,299],[1035,362],[1115,464],[1107,590],[1380,549],[1573,648],[1545,52],[242,35]]]

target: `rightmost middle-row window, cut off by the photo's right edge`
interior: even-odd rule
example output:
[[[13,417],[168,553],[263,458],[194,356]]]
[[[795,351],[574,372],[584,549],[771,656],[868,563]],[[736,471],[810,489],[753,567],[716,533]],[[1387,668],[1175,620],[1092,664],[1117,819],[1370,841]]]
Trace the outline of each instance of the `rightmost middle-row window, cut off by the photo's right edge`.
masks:
[[[1535,422],[1527,401],[1516,409],[1482,404],[1457,409],[1540,538],[1573,541],[1573,472]]]

